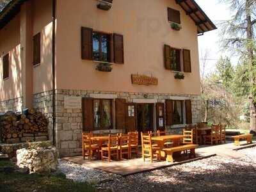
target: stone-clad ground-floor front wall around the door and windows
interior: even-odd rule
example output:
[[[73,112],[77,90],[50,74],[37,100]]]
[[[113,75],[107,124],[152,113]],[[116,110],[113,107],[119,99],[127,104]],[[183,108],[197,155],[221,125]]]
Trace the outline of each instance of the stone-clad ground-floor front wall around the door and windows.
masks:
[[[127,102],[133,99],[154,99],[157,102],[164,102],[171,97],[184,97],[191,100],[193,123],[200,122],[200,97],[198,95],[170,95],[161,93],[127,93],[127,92],[96,92],[83,90],[57,90],[56,91],[56,147],[60,156],[81,155],[82,142],[81,133],[83,132],[82,110],[65,109],[64,97],[99,97],[111,99],[122,98]],[[115,117],[113,117],[115,118]],[[170,132],[182,134],[182,128],[167,127]]]

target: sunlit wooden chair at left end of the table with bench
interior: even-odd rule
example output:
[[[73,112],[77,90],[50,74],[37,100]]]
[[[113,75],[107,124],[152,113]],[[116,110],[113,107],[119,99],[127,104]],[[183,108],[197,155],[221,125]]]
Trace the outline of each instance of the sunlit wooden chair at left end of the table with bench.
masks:
[[[141,132],[141,148],[142,148],[142,158],[149,157],[150,161],[153,162],[154,157],[158,160],[161,159],[161,150],[159,147],[152,146],[151,134],[143,134]]]

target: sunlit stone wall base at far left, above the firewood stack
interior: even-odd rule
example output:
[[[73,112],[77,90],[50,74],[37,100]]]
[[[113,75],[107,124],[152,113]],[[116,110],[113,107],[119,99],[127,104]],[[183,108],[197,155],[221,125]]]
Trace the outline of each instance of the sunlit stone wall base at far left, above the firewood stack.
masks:
[[[20,112],[22,111],[22,108],[22,97],[0,101],[0,113],[6,113],[7,111]]]

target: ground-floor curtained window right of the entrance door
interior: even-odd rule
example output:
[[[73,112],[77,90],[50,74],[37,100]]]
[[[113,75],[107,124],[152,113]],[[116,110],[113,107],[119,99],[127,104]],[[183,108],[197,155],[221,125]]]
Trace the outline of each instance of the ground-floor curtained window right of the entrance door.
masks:
[[[183,101],[172,101],[172,125],[183,124]]]

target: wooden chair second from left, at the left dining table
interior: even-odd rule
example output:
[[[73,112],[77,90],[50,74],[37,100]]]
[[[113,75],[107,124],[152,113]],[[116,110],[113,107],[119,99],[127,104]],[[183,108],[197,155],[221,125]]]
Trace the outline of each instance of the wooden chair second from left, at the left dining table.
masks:
[[[112,156],[116,156],[116,160],[119,160],[119,152],[118,152],[118,136],[108,135],[108,147],[101,148],[101,159],[108,159],[111,161]]]

